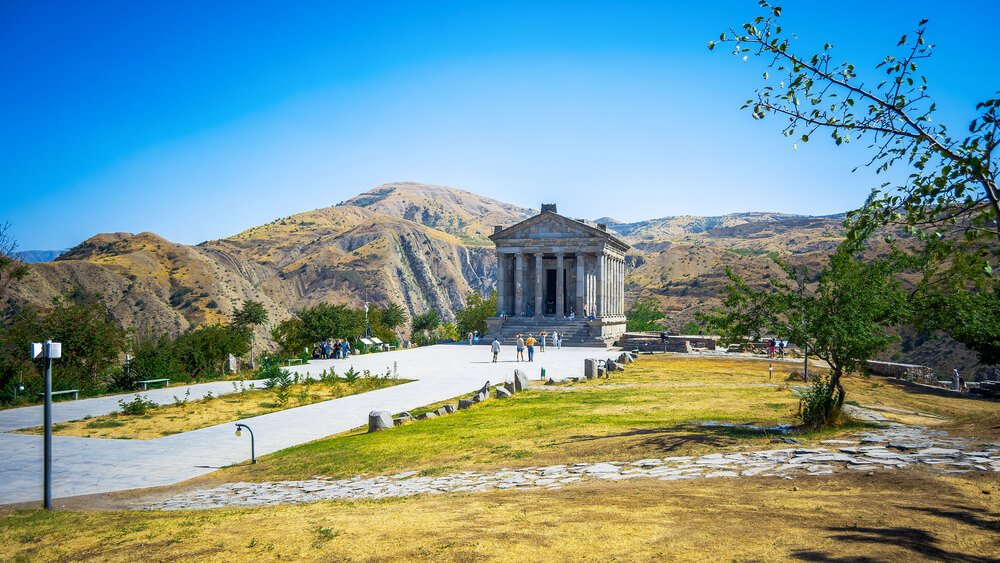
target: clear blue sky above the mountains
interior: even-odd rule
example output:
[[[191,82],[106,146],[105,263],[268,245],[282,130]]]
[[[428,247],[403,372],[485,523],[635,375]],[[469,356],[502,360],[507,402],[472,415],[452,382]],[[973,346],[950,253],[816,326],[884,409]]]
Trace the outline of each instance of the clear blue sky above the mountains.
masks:
[[[960,132],[1000,90],[1000,2],[783,3],[864,75],[929,18],[923,70]],[[183,243],[445,184],[641,220],[830,214],[880,182],[863,146],[792,150],[739,111],[762,61],[709,52],[726,2],[0,1],[0,221],[22,249]],[[751,59],[751,61],[753,61]]]

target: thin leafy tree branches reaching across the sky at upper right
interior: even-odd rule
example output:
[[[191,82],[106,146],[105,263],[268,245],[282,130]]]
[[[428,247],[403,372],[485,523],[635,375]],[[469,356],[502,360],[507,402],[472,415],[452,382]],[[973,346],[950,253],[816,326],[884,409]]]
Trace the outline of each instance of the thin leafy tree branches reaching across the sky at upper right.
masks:
[[[834,58],[829,43],[818,53],[798,52],[781,28],[781,8],[766,0],[760,5],[764,14],[708,44],[732,44],[734,55],[762,57],[776,71],[763,73],[764,85],[744,108],[754,119],[784,118],[784,134],[799,142],[820,131],[838,145],[865,139],[874,151],[868,165],[877,173],[908,168],[901,185],[876,189],[852,214],[852,237],[899,224],[921,239],[942,241],[942,252],[961,247],[995,262],[997,245],[982,242],[1000,239],[1000,99],[979,103],[968,134],[953,137],[934,119],[937,105],[918,74],[934,47],[924,38],[927,20],[900,38],[898,53],[880,59],[875,68],[884,72],[881,79],[864,79],[853,64]]]

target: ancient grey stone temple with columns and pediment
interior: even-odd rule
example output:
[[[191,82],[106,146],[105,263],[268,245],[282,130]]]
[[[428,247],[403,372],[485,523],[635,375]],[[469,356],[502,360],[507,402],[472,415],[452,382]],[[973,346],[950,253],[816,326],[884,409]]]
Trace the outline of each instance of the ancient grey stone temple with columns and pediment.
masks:
[[[558,331],[565,345],[607,345],[625,332],[625,253],[597,227],[554,204],[511,227],[495,227],[497,317],[492,334]]]

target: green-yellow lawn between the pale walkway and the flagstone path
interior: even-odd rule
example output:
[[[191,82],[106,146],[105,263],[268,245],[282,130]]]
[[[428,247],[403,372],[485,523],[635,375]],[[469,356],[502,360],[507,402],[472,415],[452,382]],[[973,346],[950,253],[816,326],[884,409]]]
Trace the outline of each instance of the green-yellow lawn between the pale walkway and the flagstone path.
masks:
[[[644,356],[609,380],[533,387],[391,432],[358,429],[213,478],[343,478],[411,470],[434,475],[770,447],[773,433],[698,422],[795,424],[799,399],[784,381],[794,365],[781,366],[769,382],[766,361]]]

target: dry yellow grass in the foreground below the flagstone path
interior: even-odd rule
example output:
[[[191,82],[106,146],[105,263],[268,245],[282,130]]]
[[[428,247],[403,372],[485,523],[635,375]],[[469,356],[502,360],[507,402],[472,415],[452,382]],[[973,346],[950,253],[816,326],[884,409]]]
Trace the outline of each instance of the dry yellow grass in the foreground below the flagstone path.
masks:
[[[0,512],[0,547],[13,561],[989,561],[998,500],[982,474],[641,480],[261,509]]]

